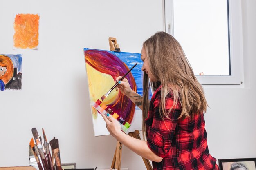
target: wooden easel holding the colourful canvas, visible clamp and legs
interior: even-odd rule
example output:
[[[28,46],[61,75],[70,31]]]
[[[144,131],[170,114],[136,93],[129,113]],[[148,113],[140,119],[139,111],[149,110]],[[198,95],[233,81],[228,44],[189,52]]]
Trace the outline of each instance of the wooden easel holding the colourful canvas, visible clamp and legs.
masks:
[[[120,52],[120,48],[119,48],[119,45],[117,44],[116,38],[110,37],[110,38],[108,38],[108,42],[109,42],[111,51]],[[135,130],[135,132],[129,132],[128,135],[141,140],[141,138],[139,136],[139,130]],[[117,169],[117,170],[121,169],[121,156],[122,156],[122,143],[117,141],[117,147],[116,147],[113,161],[111,164],[112,169]],[[144,157],[142,157],[142,159],[145,163],[147,170],[153,170],[149,160]]]

